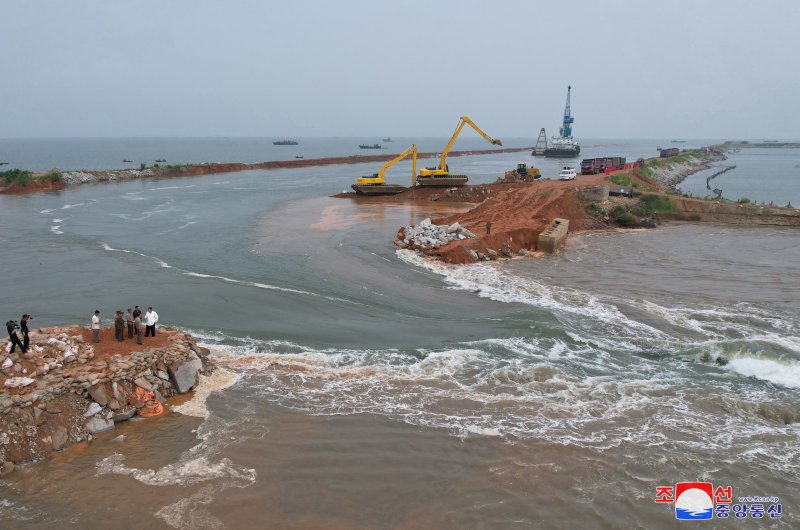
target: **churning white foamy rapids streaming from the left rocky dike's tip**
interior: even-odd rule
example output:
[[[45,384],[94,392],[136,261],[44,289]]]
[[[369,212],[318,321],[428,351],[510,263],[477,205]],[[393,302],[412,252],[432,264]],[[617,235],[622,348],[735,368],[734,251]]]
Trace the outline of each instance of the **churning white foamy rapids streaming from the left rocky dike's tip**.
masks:
[[[227,345],[227,353],[215,359],[263,399],[311,414],[379,414],[458,437],[512,443],[718,449],[762,463],[764,455],[751,458],[749,451],[764,438],[781,447],[768,452],[771,465],[800,468],[794,422],[755,405],[782,411],[792,406],[793,396],[742,385],[713,365],[611,355],[577,335],[359,350],[193,333],[208,345]],[[694,366],[707,372],[703,378]]]

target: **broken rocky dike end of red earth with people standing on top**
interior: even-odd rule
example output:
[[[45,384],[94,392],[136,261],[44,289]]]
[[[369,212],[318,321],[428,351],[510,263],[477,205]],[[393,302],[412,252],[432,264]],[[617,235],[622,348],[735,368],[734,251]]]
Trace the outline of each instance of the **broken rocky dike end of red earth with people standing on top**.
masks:
[[[28,352],[0,343],[0,475],[114,428],[163,412],[166,398],[196,388],[214,365],[209,350],[167,327],[159,347],[97,353],[79,326],[31,333]],[[165,338],[164,338],[165,337]]]

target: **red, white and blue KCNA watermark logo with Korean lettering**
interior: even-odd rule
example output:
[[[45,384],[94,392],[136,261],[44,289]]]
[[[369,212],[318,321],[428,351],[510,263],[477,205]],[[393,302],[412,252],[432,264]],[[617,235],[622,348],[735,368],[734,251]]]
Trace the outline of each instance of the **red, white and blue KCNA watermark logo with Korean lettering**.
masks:
[[[678,482],[675,487],[658,486],[657,503],[675,503],[675,518],[682,521],[703,519],[780,519],[783,508],[778,497],[739,497],[733,502],[731,486],[710,482]]]

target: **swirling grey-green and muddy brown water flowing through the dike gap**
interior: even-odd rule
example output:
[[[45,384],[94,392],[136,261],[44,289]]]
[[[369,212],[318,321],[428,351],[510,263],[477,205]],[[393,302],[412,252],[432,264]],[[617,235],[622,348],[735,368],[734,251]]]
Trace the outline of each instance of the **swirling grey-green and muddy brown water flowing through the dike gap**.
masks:
[[[533,160],[450,163],[490,182]],[[796,229],[587,233],[455,267],[391,241],[466,205],[328,197],[375,170],[0,196],[6,319],[152,305],[224,370],[185,414],[1,479],[3,525],[671,528],[656,487],[681,481],[779,497],[792,520]]]

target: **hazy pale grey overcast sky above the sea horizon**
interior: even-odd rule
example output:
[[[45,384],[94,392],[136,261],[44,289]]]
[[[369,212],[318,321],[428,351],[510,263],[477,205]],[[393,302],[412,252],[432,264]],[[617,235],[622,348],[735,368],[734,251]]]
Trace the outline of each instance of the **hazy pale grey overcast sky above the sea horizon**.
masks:
[[[800,2],[0,0],[0,137],[800,138]]]

